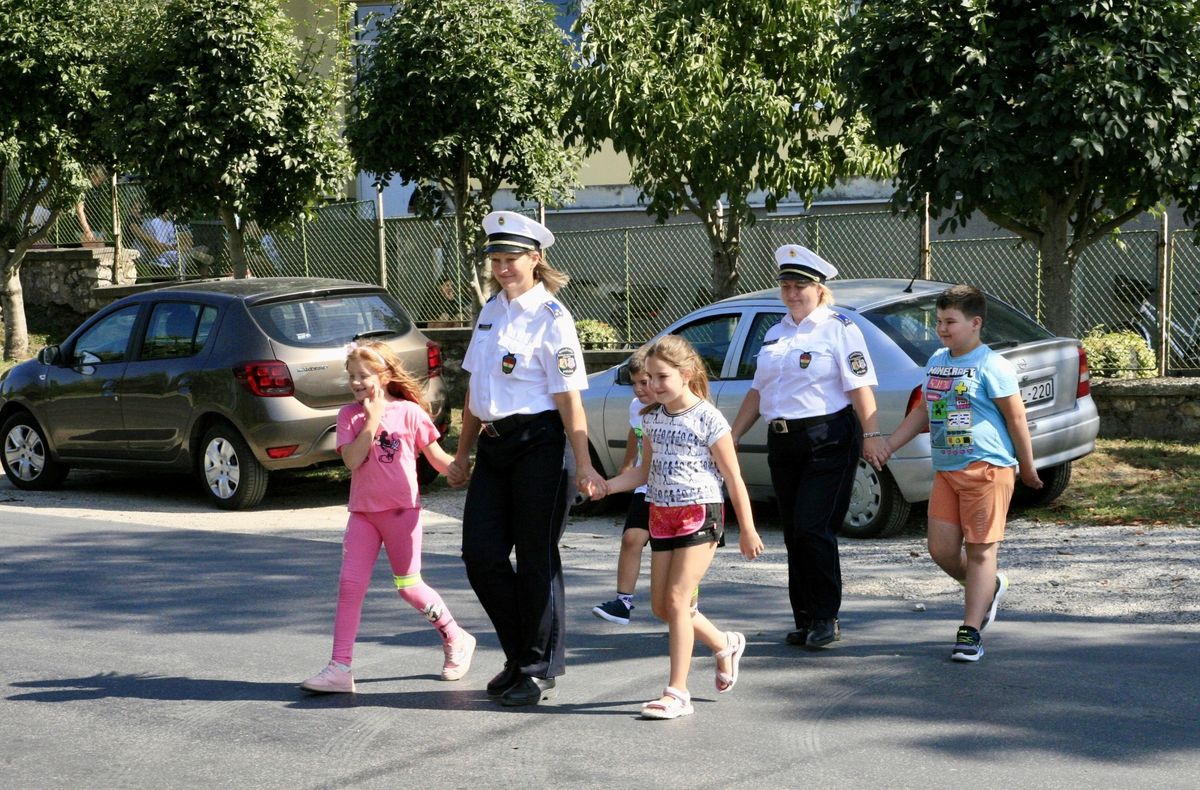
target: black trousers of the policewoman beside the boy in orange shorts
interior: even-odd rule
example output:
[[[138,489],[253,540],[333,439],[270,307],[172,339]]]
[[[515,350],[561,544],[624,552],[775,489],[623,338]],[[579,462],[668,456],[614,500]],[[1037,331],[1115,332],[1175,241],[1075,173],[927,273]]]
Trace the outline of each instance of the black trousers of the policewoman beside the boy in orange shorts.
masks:
[[[767,465],[784,523],[787,592],[797,628],[836,617],[841,609],[838,531],[850,509],[863,451],[863,429],[851,407],[803,423],[786,433],[767,435]]]

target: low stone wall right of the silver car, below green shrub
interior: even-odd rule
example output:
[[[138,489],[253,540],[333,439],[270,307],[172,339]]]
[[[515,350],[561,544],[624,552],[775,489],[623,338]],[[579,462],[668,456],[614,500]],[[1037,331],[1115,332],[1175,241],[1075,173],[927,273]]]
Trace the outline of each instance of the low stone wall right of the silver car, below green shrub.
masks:
[[[1092,379],[1103,438],[1200,442],[1200,378]]]

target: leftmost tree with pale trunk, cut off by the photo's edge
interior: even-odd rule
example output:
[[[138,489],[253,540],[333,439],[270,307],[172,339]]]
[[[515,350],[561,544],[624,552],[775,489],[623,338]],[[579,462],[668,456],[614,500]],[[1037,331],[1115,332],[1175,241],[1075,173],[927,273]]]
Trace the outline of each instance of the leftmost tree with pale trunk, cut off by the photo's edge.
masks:
[[[120,8],[102,0],[0,0],[0,310],[5,359],[29,355],[25,252],[88,188],[104,108],[102,42]]]

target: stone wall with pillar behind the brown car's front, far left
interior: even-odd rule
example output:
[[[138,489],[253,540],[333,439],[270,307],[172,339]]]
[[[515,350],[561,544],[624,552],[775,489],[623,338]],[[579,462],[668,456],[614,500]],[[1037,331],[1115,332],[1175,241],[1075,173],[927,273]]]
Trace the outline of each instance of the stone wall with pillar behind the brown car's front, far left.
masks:
[[[121,256],[121,265],[113,276],[114,253],[113,247],[30,250],[20,264],[26,310],[43,309],[64,319],[73,313],[76,323],[96,312],[110,301],[97,288],[137,280],[133,252]]]

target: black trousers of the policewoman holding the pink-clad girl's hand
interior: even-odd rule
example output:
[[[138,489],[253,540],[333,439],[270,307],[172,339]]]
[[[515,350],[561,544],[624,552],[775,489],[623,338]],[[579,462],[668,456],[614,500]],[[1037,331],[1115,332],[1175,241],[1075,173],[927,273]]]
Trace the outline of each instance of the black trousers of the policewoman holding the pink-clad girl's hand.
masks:
[[[462,515],[462,559],[505,663],[533,677],[565,672],[566,606],[558,541],[575,496],[557,411],[480,435]],[[516,549],[516,568],[510,555]]]

